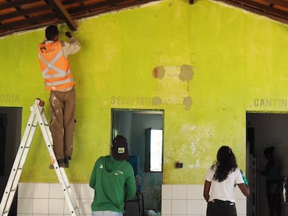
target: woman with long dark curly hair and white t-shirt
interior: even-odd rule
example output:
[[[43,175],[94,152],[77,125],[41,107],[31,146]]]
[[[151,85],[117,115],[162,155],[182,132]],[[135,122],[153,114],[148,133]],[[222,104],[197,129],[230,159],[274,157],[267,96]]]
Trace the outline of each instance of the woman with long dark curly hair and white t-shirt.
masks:
[[[232,149],[223,146],[218,149],[216,162],[207,170],[204,198],[207,201],[207,216],[237,215],[234,188],[238,185],[248,197],[250,189],[245,176],[241,174]]]

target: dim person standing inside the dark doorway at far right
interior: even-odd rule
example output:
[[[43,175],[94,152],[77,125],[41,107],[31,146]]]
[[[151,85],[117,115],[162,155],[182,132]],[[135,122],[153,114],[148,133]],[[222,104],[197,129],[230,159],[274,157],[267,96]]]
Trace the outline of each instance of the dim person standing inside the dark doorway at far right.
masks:
[[[281,215],[281,201],[280,201],[280,163],[274,158],[275,147],[264,149],[264,156],[268,160],[265,171],[261,174],[266,176],[266,195],[269,205],[270,216]]]

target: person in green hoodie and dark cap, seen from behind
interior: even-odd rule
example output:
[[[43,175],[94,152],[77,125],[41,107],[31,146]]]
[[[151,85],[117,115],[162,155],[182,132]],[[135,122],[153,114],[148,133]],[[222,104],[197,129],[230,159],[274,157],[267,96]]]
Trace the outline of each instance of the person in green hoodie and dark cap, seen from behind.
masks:
[[[133,167],[127,162],[128,142],[117,135],[111,144],[111,156],[99,157],[89,185],[94,189],[92,216],[122,216],[125,201],[136,195]]]

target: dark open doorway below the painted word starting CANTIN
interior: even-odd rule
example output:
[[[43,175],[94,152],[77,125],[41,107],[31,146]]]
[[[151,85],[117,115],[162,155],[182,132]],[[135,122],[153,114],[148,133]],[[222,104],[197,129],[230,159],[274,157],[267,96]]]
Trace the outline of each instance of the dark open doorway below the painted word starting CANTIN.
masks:
[[[264,149],[275,147],[274,156],[281,165],[281,176],[288,175],[288,114],[246,113],[246,175],[250,185],[247,215],[269,216],[266,197],[267,160]],[[281,205],[282,215],[288,215],[287,203]]]

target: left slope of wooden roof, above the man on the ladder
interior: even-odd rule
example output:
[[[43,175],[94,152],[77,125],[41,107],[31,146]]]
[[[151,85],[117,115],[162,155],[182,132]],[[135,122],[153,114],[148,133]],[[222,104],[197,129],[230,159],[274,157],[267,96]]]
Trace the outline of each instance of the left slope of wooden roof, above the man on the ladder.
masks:
[[[66,23],[157,0],[0,0],[0,37],[19,31]]]

